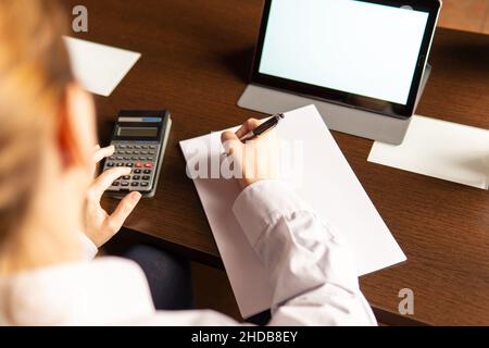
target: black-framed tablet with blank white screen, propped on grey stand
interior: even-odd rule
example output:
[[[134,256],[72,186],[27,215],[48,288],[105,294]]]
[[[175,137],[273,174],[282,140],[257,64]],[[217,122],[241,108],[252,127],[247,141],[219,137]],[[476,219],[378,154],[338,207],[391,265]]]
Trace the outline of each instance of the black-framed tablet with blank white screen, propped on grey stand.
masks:
[[[265,0],[251,83],[409,119],[440,8],[438,0]]]

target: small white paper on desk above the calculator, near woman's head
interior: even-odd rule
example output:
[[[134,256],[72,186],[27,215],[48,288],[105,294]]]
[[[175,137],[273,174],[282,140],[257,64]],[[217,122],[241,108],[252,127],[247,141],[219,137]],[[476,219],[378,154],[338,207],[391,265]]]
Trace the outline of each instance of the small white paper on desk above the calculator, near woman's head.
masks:
[[[76,78],[88,91],[109,97],[141,57],[115,47],[64,37]]]

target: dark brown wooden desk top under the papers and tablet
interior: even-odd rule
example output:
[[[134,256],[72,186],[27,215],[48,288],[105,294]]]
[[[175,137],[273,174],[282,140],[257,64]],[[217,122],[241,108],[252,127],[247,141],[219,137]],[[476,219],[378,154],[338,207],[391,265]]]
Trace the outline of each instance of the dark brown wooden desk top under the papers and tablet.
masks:
[[[178,141],[263,116],[236,105],[247,83],[262,1],[66,3],[83,3],[89,11],[89,33],[77,37],[142,53],[111,97],[97,98],[101,140],[109,140],[121,109],[167,108],[173,113],[158,196],[142,201],[126,227],[220,265]],[[430,62],[432,75],[418,113],[489,128],[489,36],[438,29]],[[361,278],[377,313],[399,316],[398,293],[411,288],[411,319],[489,324],[488,192],[368,163],[372,141],[334,136],[409,258]],[[110,209],[114,201],[106,199],[104,206]]]

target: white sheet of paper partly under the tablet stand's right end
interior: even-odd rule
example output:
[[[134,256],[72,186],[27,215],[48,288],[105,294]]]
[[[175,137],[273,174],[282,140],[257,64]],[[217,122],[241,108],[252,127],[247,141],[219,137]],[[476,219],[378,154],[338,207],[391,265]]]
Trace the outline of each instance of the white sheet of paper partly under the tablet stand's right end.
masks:
[[[415,115],[402,145],[375,142],[368,161],[488,189],[489,130]]]

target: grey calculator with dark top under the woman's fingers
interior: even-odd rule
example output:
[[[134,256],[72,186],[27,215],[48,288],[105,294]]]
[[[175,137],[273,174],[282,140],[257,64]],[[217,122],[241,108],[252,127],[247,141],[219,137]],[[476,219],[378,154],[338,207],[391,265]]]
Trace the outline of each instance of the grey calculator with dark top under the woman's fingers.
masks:
[[[138,191],[143,198],[154,197],[171,127],[167,110],[120,112],[111,140],[115,152],[105,160],[103,171],[130,167],[131,173],[112,183],[108,196],[122,198]]]

